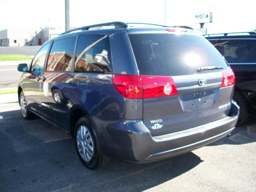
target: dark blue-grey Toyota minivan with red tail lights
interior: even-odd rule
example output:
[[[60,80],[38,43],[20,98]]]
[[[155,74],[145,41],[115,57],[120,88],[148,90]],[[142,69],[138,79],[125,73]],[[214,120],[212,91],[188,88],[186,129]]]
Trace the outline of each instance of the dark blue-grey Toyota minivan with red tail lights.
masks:
[[[22,116],[68,132],[89,169],[170,158],[236,126],[235,76],[214,46],[188,27],[135,25],[64,32],[18,66]]]

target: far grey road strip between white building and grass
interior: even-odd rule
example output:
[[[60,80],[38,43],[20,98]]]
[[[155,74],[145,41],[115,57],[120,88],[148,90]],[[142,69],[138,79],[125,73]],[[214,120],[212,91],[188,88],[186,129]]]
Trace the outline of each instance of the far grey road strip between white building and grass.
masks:
[[[0,46],[0,54],[35,55],[40,46]]]

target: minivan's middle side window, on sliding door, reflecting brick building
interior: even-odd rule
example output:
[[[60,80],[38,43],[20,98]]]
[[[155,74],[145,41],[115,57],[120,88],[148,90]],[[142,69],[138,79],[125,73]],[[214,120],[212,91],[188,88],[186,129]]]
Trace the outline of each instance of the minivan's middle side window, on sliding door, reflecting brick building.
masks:
[[[54,41],[48,57],[47,71],[71,71],[76,38]]]

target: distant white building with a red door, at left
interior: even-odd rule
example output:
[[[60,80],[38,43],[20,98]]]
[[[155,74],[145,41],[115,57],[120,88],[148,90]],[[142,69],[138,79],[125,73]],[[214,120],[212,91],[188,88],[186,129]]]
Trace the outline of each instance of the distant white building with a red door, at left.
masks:
[[[0,31],[0,46],[42,45],[44,42],[64,32],[61,28],[6,29]]]

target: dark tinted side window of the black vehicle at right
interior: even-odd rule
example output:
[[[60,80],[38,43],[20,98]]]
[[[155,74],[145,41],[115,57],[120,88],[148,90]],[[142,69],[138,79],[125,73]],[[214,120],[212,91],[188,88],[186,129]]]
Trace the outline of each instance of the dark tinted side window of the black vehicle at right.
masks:
[[[210,40],[228,63],[256,63],[256,40]]]

